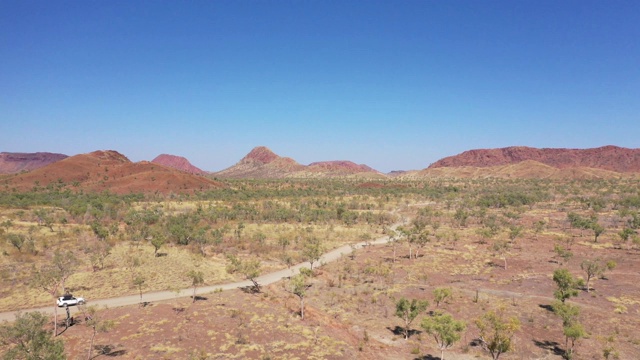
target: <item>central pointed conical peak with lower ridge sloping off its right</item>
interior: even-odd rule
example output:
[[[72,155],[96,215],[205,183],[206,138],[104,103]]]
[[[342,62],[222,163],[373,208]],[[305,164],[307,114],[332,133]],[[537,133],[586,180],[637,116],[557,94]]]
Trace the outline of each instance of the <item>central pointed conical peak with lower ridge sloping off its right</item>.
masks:
[[[367,165],[351,161],[320,161],[307,166],[288,157],[280,157],[265,146],[253,148],[235,165],[213,173],[221,178],[334,178],[379,177],[383,174]]]

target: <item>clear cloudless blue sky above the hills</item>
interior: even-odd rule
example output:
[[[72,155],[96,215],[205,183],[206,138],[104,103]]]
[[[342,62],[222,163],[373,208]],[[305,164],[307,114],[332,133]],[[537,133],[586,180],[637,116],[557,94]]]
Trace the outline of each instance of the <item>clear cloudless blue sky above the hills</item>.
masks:
[[[0,151],[386,172],[639,141],[638,1],[0,1]]]

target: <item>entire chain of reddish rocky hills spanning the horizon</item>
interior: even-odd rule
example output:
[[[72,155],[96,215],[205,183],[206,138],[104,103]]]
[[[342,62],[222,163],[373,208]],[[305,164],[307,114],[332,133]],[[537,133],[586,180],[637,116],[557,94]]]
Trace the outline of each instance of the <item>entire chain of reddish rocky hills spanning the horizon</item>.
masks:
[[[422,170],[383,174],[347,160],[303,165],[264,146],[252,149],[227,169],[206,172],[186,158],[162,154],[153,161],[131,162],[113,150],[68,157],[52,153],[0,153],[0,186],[81,187],[116,193],[180,193],[223,186],[216,178],[640,178],[640,149],[604,146],[593,149],[507,147],[469,150],[438,160]],[[7,174],[9,173],[9,174]]]

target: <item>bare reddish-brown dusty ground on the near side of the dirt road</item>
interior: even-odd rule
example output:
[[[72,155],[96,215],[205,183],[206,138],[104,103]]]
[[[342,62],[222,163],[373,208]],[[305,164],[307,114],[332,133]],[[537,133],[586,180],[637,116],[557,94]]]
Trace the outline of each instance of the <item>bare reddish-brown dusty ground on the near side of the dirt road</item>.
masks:
[[[606,279],[596,281],[594,290],[571,300],[582,308],[581,320],[589,331],[579,342],[577,358],[602,358],[605,339],[612,335],[621,359],[637,358],[640,256],[607,243],[594,246],[588,238],[577,240],[575,258],[568,264],[572,272],[579,274],[581,259],[594,253],[618,263]],[[439,309],[469,325],[446,358],[487,358],[473,345],[477,330],[472,319],[497,306],[522,323],[516,350],[501,358],[560,358],[561,323],[549,310],[555,287],[550,274],[559,267],[553,244],[548,236],[519,240],[507,270],[486,245],[473,241],[452,247],[433,244],[411,260],[402,247],[396,263],[390,246],[373,246],[317,270],[304,320],[298,316],[298,298],[284,289],[285,280],[259,294],[233,290],[200,294],[195,304],[176,299],[106,310],[103,316],[118,325],[99,334],[98,344],[122,358],[435,359],[439,351],[420,331],[419,320],[409,340],[398,333],[402,323],[394,315],[394,299],[427,299],[432,311],[433,289],[449,287],[453,297]],[[388,267],[389,273],[374,274],[375,267]],[[89,333],[79,324],[63,334],[70,354],[87,350]]]

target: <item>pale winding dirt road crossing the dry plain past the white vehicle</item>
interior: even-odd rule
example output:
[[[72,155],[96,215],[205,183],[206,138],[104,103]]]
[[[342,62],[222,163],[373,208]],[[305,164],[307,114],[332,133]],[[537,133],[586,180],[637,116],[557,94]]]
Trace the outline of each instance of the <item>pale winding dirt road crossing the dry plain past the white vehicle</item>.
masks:
[[[396,229],[398,226],[400,226],[401,223],[396,223],[394,224],[391,228],[392,229]],[[386,244],[389,242],[389,236],[383,236],[380,237],[376,240],[372,240],[372,241],[368,241],[368,242],[360,242],[357,243],[355,245],[343,245],[337,249],[333,249],[327,253],[325,253],[324,255],[322,255],[320,257],[320,261],[318,261],[318,264],[316,265],[316,267],[320,267],[323,264],[326,263],[330,263],[332,261],[336,261],[338,259],[340,259],[342,256],[348,255],[351,253],[352,248],[355,249],[361,249],[364,246],[367,246],[367,244],[369,245],[379,245],[379,244]],[[257,281],[260,285],[270,285],[273,284],[275,282],[278,282],[280,280],[282,280],[283,278],[287,278],[290,277],[292,275],[298,274],[300,272],[301,268],[309,268],[310,264],[309,262],[304,262],[304,263],[300,263],[297,264],[295,266],[292,266],[289,269],[283,269],[283,270],[278,270],[278,271],[274,271],[265,275],[262,275],[260,277],[257,278]],[[247,287],[247,286],[252,286],[253,283],[249,280],[244,280],[244,281],[237,281],[237,282],[233,282],[233,283],[226,283],[226,284],[217,284],[217,285],[211,285],[211,286],[203,286],[198,288],[197,294],[207,294],[207,293],[211,293],[214,292],[218,289],[222,289],[224,290],[231,290],[231,289],[238,289],[238,288],[243,288],[243,287]],[[171,300],[171,299],[175,299],[175,298],[181,298],[181,297],[190,297],[193,295],[193,288],[188,288],[188,289],[181,289],[179,291],[156,291],[156,292],[149,292],[149,293],[143,293],[142,294],[142,299],[145,302],[155,302],[155,301],[163,301],[163,300]],[[117,298],[108,298],[108,299],[98,299],[98,300],[92,300],[89,299],[89,303],[91,305],[96,305],[98,307],[120,307],[120,306],[127,306],[127,305],[135,305],[135,304],[139,304],[140,303],[140,295],[128,295],[128,296],[121,296],[121,297],[117,297]],[[75,307],[72,307],[72,309]],[[19,311],[9,311],[9,312],[3,312],[0,313],[0,321],[13,321],[15,320],[15,315],[18,312],[21,313],[25,313],[25,312],[33,312],[33,311],[38,311],[38,312],[43,312],[46,314],[51,314],[53,315],[53,306],[47,306],[47,307],[40,307],[40,308],[35,308],[35,309],[23,309],[23,310],[19,310]],[[79,310],[76,308],[74,309],[74,312],[78,312]],[[60,310],[61,314],[64,314],[64,311]]]

